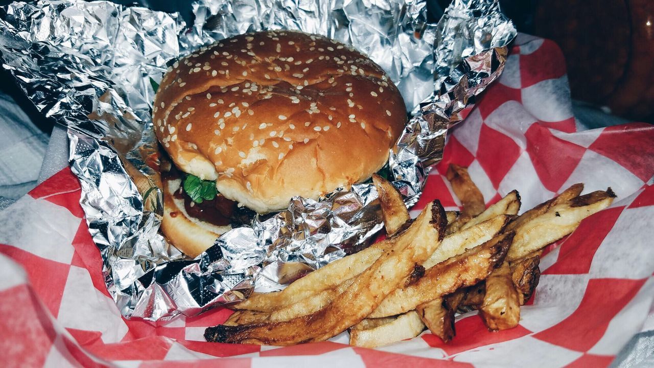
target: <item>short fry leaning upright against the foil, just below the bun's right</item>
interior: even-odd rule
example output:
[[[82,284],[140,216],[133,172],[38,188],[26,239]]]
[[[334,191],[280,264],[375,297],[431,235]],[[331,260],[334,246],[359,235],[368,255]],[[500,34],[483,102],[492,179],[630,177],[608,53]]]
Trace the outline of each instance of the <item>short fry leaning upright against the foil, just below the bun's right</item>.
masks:
[[[397,230],[409,221],[409,210],[407,210],[402,195],[387,179],[373,174],[372,182],[379,194],[379,204],[384,219],[384,226],[388,235],[394,234]]]

